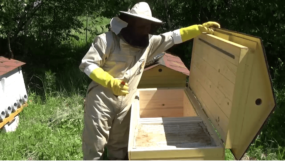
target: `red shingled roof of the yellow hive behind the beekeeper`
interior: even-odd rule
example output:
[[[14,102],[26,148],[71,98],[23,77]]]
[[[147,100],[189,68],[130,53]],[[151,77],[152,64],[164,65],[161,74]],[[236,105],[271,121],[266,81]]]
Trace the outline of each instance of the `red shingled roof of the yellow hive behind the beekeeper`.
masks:
[[[186,66],[184,65],[184,63],[181,61],[181,59],[178,56],[174,56],[174,55],[171,55],[165,52],[163,53],[164,53],[164,56],[162,56],[162,58],[159,59],[157,63],[154,63],[151,66],[148,66],[147,68],[144,69],[144,71],[147,71],[158,65],[163,65],[163,66],[166,66],[168,68],[171,68],[175,71],[184,73],[189,76],[189,70],[186,68]]]

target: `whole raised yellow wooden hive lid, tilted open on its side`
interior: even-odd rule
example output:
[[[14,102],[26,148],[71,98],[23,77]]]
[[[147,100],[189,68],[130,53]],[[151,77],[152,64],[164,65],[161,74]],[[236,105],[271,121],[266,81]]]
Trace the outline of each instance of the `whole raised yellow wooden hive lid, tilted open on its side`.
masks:
[[[194,38],[188,88],[240,160],[276,106],[259,37],[225,29]]]

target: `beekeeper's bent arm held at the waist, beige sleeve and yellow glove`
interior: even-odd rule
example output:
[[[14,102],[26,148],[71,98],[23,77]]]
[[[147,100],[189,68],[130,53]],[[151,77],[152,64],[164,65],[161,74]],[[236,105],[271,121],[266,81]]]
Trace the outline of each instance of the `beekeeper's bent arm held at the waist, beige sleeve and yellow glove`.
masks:
[[[122,80],[115,79],[101,68],[106,57],[109,56],[108,51],[106,35],[96,36],[89,51],[83,57],[79,68],[95,82],[110,88],[114,95],[126,95],[128,94],[128,84],[121,84]]]

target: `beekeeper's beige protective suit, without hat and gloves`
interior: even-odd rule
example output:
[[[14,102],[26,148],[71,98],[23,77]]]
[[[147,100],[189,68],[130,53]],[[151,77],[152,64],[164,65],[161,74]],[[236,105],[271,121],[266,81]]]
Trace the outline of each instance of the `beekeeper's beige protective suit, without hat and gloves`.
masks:
[[[107,143],[110,160],[123,160],[126,157],[129,109],[145,62],[181,42],[179,30],[152,35],[145,49],[132,47],[112,30],[95,37],[82,59],[80,70],[89,76],[94,66],[99,66],[114,78],[123,80],[126,77],[129,94],[116,97],[110,89],[99,83],[90,83],[85,100],[82,134],[84,160],[99,160]]]

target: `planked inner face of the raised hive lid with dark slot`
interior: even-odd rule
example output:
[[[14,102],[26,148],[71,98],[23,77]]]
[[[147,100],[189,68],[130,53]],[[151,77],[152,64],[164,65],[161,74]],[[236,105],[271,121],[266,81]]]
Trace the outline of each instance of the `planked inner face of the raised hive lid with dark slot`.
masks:
[[[239,59],[247,50],[213,35],[194,39],[188,84],[224,142]]]

